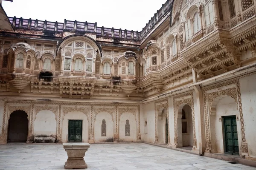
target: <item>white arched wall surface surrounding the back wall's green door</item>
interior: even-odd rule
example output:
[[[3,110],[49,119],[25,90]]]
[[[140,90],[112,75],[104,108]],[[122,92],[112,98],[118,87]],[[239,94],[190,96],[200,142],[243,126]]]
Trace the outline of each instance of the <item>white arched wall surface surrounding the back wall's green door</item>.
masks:
[[[64,116],[64,120],[62,122],[62,142],[64,143],[68,141],[68,120],[83,120],[82,142],[88,142],[89,122],[87,120],[87,116],[78,111],[69,112]]]

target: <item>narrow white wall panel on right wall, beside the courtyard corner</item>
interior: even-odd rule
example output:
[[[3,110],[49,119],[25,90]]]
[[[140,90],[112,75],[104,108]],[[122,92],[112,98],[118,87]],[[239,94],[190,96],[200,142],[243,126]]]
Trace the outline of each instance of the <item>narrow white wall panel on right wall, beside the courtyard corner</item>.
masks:
[[[155,140],[154,102],[143,105],[143,114],[144,114],[144,119],[147,119],[147,134],[144,135],[143,141],[154,143],[154,140]],[[144,123],[143,123],[143,126],[144,126]]]

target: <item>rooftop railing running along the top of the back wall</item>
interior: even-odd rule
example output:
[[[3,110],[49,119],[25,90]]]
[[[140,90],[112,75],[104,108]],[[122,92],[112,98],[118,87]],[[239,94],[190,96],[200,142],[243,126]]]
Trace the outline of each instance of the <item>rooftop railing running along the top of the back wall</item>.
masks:
[[[105,28],[97,27],[97,23],[87,23],[79,21],[64,20],[64,23],[49,22],[47,20],[32,20],[23,19],[22,17],[9,17],[10,23],[16,29],[28,29],[36,31],[54,31],[54,32],[64,32],[73,31],[81,33],[95,33],[98,37],[107,37],[114,39],[126,39],[126,40],[140,40],[140,34],[138,31],[128,31],[115,28]]]

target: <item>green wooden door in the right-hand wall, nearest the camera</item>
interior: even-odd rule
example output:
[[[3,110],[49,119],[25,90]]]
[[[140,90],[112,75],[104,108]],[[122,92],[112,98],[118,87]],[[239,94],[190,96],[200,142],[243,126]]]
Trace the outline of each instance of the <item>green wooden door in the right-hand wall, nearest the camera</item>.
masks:
[[[224,145],[225,153],[239,154],[236,116],[224,116]]]

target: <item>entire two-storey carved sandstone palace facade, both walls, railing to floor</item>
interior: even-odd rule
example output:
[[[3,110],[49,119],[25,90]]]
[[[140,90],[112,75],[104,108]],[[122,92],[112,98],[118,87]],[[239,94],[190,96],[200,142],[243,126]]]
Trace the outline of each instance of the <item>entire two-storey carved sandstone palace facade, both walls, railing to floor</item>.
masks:
[[[140,32],[8,17],[0,143],[149,142],[256,160],[255,10],[167,0]]]

